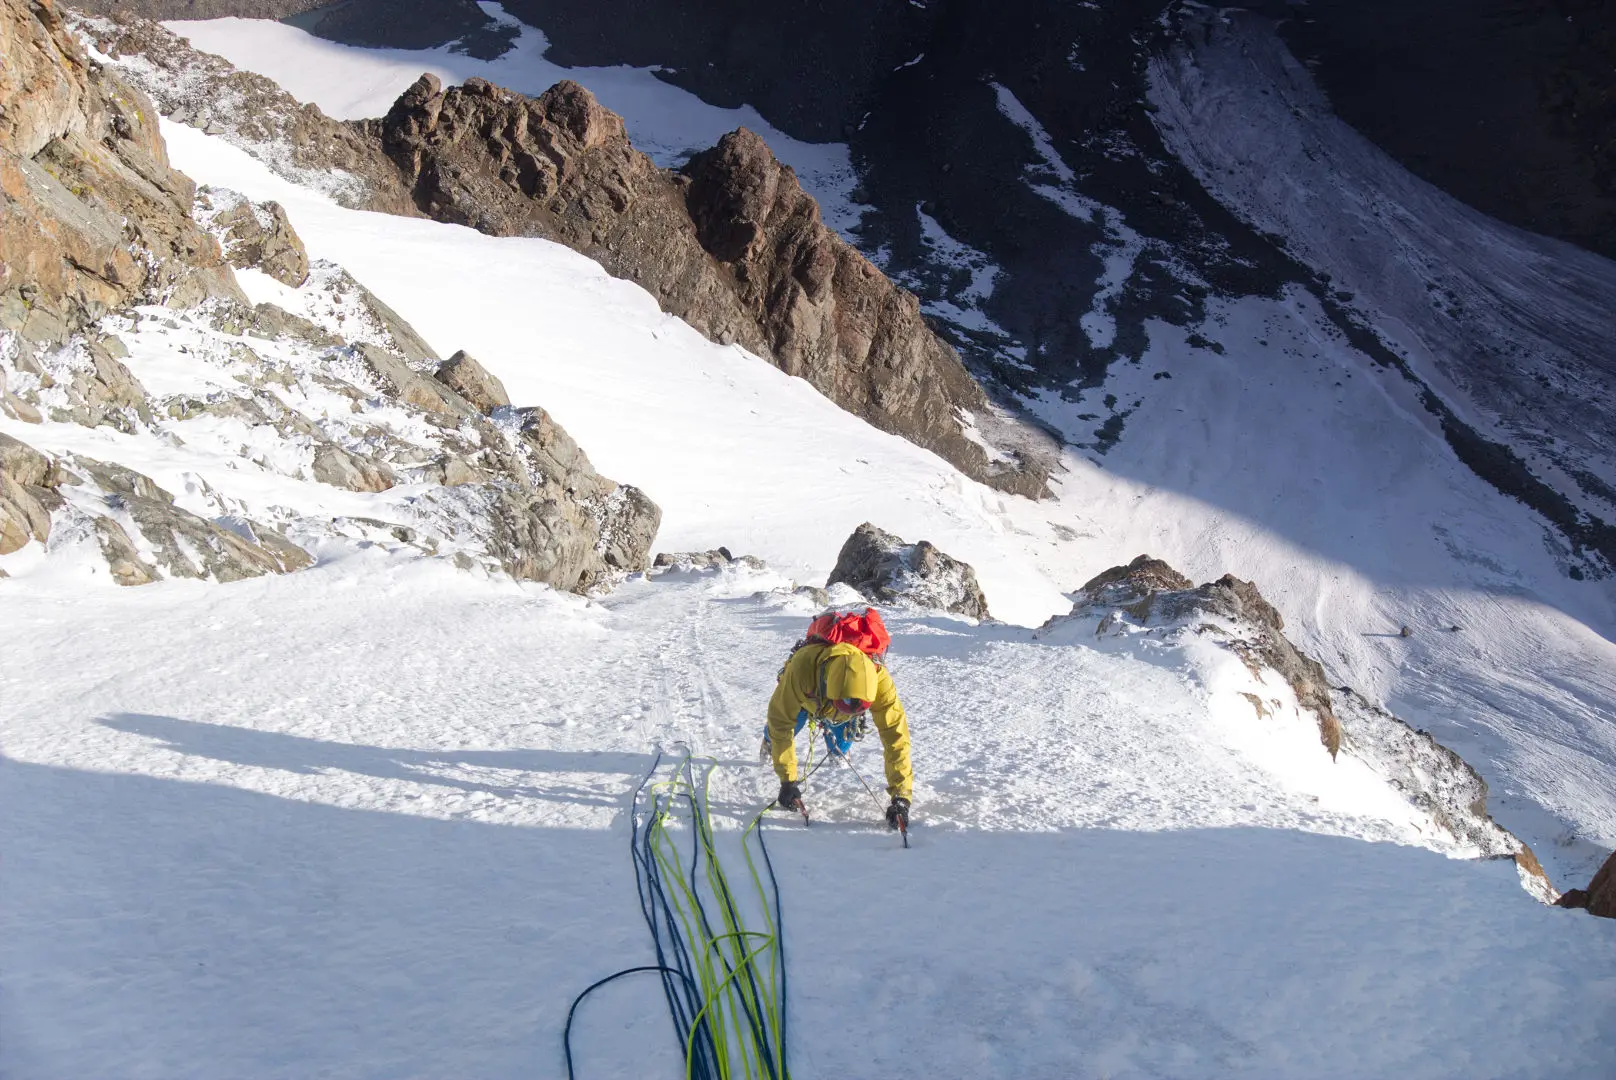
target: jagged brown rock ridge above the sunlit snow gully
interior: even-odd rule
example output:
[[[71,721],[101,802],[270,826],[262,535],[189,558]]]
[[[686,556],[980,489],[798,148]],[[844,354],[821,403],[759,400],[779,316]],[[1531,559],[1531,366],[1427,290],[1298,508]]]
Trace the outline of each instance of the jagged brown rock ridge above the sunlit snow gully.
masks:
[[[444,91],[430,74],[362,129],[428,217],[567,244],[968,475],[1046,491],[1046,466],[994,462],[965,437],[962,412],[991,412],[981,390],[756,134],[734,131],[672,176],[575,82],[528,99],[482,79]]]

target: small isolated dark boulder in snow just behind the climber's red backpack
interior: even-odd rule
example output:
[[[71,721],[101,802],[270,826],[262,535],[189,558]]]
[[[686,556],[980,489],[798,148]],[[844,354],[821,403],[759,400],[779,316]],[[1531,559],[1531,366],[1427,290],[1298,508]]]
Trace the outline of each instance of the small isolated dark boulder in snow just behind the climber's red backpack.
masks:
[[[987,619],[987,597],[976,571],[928,540],[905,543],[868,521],[853,530],[835,556],[826,589],[844,584],[876,603],[908,605]]]

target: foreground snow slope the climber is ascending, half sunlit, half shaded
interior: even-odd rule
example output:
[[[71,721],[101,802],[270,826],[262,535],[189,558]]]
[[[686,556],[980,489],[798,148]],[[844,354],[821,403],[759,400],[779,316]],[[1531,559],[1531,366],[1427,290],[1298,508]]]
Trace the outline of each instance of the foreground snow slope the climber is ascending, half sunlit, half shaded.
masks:
[[[651,750],[726,763],[721,828],[772,794],[758,718],[805,621],[750,598],[774,582],[583,601],[357,553],[8,597],[26,656],[73,663],[0,684],[0,1070],[558,1075],[572,994],[648,952],[624,810]],[[797,1075],[1616,1067],[1616,925],[1366,842],[1408,823],[1259,768],[1178,673],[894,629],[915,847],[845,771],[810,783],[816,828],[769,826]],[[580,1075],[675,1075],[661,1009],[591,998]]]

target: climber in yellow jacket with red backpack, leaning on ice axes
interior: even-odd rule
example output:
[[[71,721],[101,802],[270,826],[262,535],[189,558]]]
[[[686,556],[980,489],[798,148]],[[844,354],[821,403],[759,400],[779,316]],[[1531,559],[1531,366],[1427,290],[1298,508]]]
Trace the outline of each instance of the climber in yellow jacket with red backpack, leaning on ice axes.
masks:
[[[769,719],[763,736],[763,752],[774,761],[781,778],[776,800],[787,810],[802,810],[802,774],[797,770],[795,736],[810,719],[824,731],[831,757],[845,757],[853,739],[863,737],[865,716],[881,736],[881,753],[887,773],[887,825],[908,831],[913,771],[908,753],[908,721],[898,702],[884,655],[892,635],[881,614],[823,614],[808,627],[806,637],[792,650],[781,668]]]

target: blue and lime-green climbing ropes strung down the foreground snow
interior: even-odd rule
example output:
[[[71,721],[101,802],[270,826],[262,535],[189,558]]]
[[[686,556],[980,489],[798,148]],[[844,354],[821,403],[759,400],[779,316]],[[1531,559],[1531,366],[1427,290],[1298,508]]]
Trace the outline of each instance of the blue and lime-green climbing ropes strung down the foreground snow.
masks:
[[[709,760],[698,783],[695,761],[685,753],[667,779],[653,783],[661,763],[663,753],[658,752],[635,787],[629,813],[635,888],[656,964],[608,975],[574,998],[562,1033],[567,1077],[574,1080],[575,1075],[572,1020],[583,998],[624,975],[656,972],[687,1080],[790,1080],[785,1065],[781,886],[763,836],[768,807],[758,810],[740,841],[766,926],[755,930],[747,923],[718,854],[711,820],[711,783],[718,763]],[[688,862],[669,829],[671,823],[685,818]],[[763,855],[761,873],[753,844]],[[716,913],[716,922],[711,913]]]

